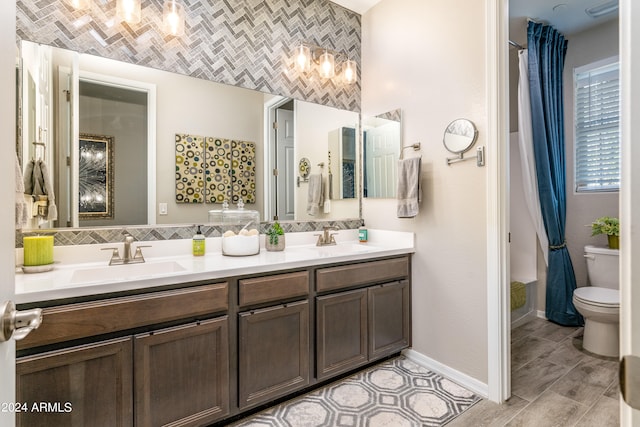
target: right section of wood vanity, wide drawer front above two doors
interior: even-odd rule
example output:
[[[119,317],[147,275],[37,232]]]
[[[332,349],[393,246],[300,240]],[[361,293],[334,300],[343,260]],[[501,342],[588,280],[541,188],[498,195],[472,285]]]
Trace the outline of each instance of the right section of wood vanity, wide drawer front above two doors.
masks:
[[[410,345],[408,262],[405,257],[318,270],[318,291],[331,291],[316,297],[319,379],[353,370]],[[387,282],[393,278],[400,280]],[[358,289],[335,292],[354,287]]]

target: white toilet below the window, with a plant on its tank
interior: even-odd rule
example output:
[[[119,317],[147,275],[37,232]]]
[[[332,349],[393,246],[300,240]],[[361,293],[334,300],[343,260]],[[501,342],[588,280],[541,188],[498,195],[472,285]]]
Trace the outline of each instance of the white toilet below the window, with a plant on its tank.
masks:
[[[573,291],[573,305],[585,320],[582,347],[601,356],[619,351],[618,249],[585,246],[589,285]]]

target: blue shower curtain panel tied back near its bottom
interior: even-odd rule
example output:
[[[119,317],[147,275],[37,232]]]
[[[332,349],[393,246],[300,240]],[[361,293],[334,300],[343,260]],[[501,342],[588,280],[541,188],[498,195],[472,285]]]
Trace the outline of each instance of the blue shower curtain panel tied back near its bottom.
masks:
[[[544,226],[549,237],[547,319],[566,326],[584,324],[573,305],[576,277],[565,241],[566,180],[562,70],[567,41],[554,28],[529,22],[529,91],[533,152]]]

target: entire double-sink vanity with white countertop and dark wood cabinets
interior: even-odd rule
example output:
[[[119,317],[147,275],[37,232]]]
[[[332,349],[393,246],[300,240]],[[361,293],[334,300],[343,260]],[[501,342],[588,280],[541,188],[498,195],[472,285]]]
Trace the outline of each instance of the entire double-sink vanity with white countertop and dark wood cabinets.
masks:
[[[53,271],[16,274],[18,307],[43,308],[16,378],[17,401],[61,410],[18,425],[209,425],[398,353],[414,235],[369,236],[289,233],[284,251],[247,257],[219,238],[204,257],[188,239],[151,242],[145,263],[114,266],[101,245],[56,247]]]

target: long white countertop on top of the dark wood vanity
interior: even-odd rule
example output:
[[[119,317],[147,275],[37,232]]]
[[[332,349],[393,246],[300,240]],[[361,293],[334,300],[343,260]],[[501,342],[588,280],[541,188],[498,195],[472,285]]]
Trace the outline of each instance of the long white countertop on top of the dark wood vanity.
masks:
[[[131,291],[414,252],[414,233],[369,230],[369,241],[359,243],[357,232],[341,230],[336,235],[337,245],[322,247],[315,246],[317,232],[287,233],[286,248],[281,252],[265,250],[264,235],[261,235],[260,253],[242,257],[222,255],[219,237],[206,239],[207,253],[201,257],[191,255],[191,239],[134,242],[133,248],[151,245],[143,249],[146,262],[118,266],[108,266],[111,252],[101,249],[121,248],[121,243],[56,246],[52,271],[25,274],[16,268],[15,302]],[[16,250],[19,262],[21,252]]]

